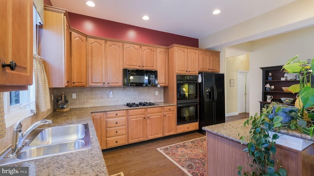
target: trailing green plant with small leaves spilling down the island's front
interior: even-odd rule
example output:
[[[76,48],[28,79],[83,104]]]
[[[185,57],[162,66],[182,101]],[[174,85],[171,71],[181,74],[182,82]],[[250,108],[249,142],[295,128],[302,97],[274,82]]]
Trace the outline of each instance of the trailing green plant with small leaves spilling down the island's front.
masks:
[[[238,176],[287,176],[287,171],[282,166],[275,155],[276,153],[276,139],[279,138],[277,133],[274,133],[272,137],[269,135],[269,131],[277,131],[283,127],[281,116],[274,116],[271,119],[268,118],[269,114],[272,114],[271,108],[263,108],[261,116],[256,113],[250,116],[245,122],[244,127],[251,125],[249,135],[241,136],[241,144],[247,142],[247,148],[243,151],[248,154],[252,160],[249,160],[247,165],[250,167],[249,171],[244,170],[243,166],[238,166]],[[276,109],[277,112],[281,111],[281,108]],[[267,116],[266,116],[267,115]],[[246,139],[248,137],[248,140]],[[279,169],[275,169],[275,165],[279,165]]]

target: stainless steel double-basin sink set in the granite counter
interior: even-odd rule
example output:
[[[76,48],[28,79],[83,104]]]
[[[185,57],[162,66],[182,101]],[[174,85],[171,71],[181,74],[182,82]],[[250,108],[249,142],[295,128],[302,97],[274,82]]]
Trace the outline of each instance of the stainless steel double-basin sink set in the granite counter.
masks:
[[[16,156],[11,149],[0,157],[0,166],[85,150],[91,147],[88,124],[35,129],[24,140]]]

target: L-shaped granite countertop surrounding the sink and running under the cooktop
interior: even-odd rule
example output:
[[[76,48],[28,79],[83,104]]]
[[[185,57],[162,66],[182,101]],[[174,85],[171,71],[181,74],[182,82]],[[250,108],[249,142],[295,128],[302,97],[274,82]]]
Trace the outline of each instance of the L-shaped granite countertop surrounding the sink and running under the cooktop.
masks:
[[[162,107],[175,104],[156,103],[155,106]],[[88,123],[91,137],[91,148],[55,156],[44,157],[40,159],[30,160],[26,162],[10,164],[6,166],[29,167],[30,176],[109,176],[106,169],[105,160],[99,145],[97,134],[91,118],[91,112],[101,112],[110,110],[130,110],[138,108],[129,108],[124,105],[91,107],[91,108],[74,108],[69,111],[59,112],[53,111],[46,119],[51,119],[51,125],[43,125],[40,128]],[[110,173],[115,174],[115,173]]]

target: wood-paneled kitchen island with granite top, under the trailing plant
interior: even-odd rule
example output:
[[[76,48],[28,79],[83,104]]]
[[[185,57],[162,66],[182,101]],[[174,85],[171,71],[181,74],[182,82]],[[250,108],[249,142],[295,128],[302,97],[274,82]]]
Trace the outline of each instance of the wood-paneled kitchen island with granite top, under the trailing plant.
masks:
[[[237,167],[244,166],[251,159],[243,152],[240,136],[247,136],[250,127],[243,127],[247,119],[203,127],[206,131],[208,150],[208,176],[237,176]],[[309,135],[298,131],[281,130],[280,133],[304,139],[312,143]],[[299,151],[276,144],[276,155],[288,176],[310,176],[314,168],[314,143]],[[249,168],[245,168],[248,169]]]

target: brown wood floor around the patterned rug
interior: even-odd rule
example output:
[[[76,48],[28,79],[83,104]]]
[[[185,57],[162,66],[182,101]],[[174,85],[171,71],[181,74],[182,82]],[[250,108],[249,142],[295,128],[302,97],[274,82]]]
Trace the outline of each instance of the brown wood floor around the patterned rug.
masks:
[[[226,122],[248,118],[248,114],[229,116]],[[205,136],[198,132],[170,136],[146,144],[104,152],[109,175],[123,172],[125,176],[186,176],[157,148]]]

